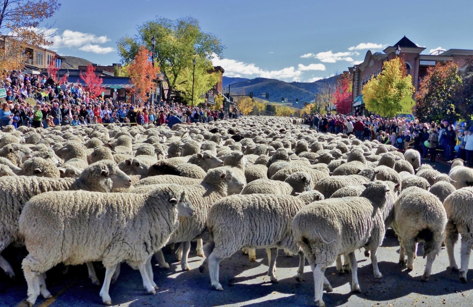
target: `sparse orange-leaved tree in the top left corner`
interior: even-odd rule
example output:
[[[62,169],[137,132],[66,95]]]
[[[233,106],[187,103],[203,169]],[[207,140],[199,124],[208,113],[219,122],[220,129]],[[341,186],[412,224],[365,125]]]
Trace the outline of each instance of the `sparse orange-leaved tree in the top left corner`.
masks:
[[[27,56],[24,44],[51,46],[50,26],[43,25],[59,10],[58,0],[0,1],[0,35],[5,50],[0,53],[0,69],[21,69]],[[41,25],[41,27],[40,27]]]

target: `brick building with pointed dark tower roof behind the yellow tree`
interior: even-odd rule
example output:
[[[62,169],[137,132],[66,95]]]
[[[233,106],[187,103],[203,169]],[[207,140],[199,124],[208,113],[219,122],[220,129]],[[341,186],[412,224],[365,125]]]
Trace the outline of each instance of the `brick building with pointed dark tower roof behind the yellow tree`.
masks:
[[[412,76],[412,85],[416,91],[419,90],[420,80],[427,74],[427,68],[435,66],[438,62],[454,61],[461,70],[465,66],[465,59],[473,55],[473,50],[467,49],[438,50],[431,54],[422,54],[425,48],[418,47],[406,36],[396,44],[384,49],[383,52],[372,53],[368,50],[363,63],[348,67],[349,72],[353,76],[354,113],[363,113],[365,111],[362,95],[363,86],[381,73],[385,61],[389,61],[397,56],[396,50],[400,51],[399,56],[406,63],[407,73]]]

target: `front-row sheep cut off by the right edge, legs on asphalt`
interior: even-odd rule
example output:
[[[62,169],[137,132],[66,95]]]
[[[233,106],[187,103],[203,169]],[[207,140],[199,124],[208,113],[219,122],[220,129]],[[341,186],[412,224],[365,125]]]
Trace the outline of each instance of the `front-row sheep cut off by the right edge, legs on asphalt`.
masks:
[[[461,235],[461,263],[460,280],[466,283],[466,273],[468,272],[468,262],[473,248],[470,229],[473,228],[471,210],[473,204],[473,187],[463,187],[454,191],[444,201],[444,208],[447,212],[448,222],[445,234],[445,247],[447,248],[449,266],[453,270],[458,270],[455,262],[453,250],[458,241],[458,234]]]

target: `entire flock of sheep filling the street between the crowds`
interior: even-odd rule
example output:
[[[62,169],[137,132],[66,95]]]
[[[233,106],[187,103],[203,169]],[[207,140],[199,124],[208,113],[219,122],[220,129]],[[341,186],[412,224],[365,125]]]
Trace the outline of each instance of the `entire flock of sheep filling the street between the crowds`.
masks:
[[[382,278],[377,250],[387,227],[400,241],[400,263],[413,269],[417,244],[427,258],[427,281],[442,244],[458,270],[453,248],[461,236],[460,280],[466,282],[473,247],[473,169],[455,160],[449,175],[420,165],[417,151],[402,153],[377,141],[321,134],[299,119],[241,117],[210,124],[167,127],[27,128],[0,133],[0,253],[25,246],[22,261],[27,303],[51,297],[45,274],[59,263],[101,261],[100,290],[111,304],[110,283],[120,263],[139,270],[155,293],[151,258],[169,267],[161,249],[190,270],[190,242],[205,256],[212,288],[219,263],[238,250],[255,260],[268,255],[268,276],[277,282],[279,249],[298,254],[296,279],[307,258],[314,300],[324,306],[332,291],[324,273],[336,263],[351,271],[360,292],[354,251],[364,248],[375,278]],[[205,245],[203,245],[205,243]],[[406,262],[407,255],[407,262]],[[0,255],[0,267],[14,277]]]

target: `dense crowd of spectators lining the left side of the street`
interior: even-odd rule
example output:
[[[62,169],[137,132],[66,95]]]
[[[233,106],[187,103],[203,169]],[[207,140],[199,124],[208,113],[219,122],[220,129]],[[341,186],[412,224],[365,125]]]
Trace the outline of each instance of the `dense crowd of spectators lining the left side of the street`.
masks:
[[[131,103],[94,96],[81,85],[55,82],[45,75],[13,70],[1,78],[6,102],[0,110],[0,128],[7,125],[55,127],[58,125],[168,125],[176,123],[238,118],[242,113],[228,113],[201,107],[187,107],[174,101]],[[172,119],[171,119],[172,118]]]

